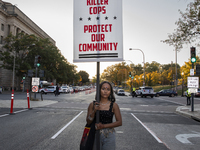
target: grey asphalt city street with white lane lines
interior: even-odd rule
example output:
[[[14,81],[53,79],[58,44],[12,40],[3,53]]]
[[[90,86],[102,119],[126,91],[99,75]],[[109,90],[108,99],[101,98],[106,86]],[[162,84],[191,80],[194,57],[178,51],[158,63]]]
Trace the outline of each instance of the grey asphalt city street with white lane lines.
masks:
[[[200,147],[200,123],[175,112],[186,104],[185,97],[132,98],[116,96],[123,124],[115,128],[116,150],[196,150]],[[40,97],[40,94],[37,94]],[[1,150],[78,150],[89,103],[95,92],[86,94],[43,95],[43,101],[56,103],[31,110],[0,108]],[[15,94],[26,101],[26,93]],[[0,101],[10,101],[1,94]],[[38,101],[40,103],[42,101]],[[200,98],[194,99],[200,104]],[[24,110],[24,111],[21,111]]]

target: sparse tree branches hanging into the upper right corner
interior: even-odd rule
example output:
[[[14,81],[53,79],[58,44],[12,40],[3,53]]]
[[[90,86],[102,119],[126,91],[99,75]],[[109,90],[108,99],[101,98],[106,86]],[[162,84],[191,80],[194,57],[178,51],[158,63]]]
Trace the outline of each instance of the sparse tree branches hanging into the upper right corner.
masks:
[[[188,4],[186,12],[179,10],[181,18],[175,23],[177,29],[168,35],[168,39],[162,41],[180,50],[183,44],[196,42],[199,44],[200,36],[200,0],[194,0]]]

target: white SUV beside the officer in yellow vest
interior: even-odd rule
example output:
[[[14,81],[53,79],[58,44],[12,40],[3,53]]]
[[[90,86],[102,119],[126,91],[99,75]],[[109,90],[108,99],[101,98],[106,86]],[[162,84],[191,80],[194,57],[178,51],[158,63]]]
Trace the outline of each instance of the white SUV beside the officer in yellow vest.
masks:
[[[142,86],[135,91],[135,96],[147,97],[150,96],[153,98],[155,96],[154,90],[152,87]]]

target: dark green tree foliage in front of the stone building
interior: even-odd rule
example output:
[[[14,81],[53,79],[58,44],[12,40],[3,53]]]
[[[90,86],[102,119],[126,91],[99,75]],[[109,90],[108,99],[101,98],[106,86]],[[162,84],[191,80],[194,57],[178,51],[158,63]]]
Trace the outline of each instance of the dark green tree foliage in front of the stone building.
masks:
[[[0,50],[2,68],[12,70],[15,55],[16,76],[22,77],[24,72],[35,69],[35,56],[41,56],[41,66],[38,69],[45,71],[45,79],[57,83],[77,82],[76,66],[70,64],[60,50],[48,39],[41,39],[34,35],[19,33],[10,34],[5,38],[3,49]],[[38,76],[38,75],[37,75]]]

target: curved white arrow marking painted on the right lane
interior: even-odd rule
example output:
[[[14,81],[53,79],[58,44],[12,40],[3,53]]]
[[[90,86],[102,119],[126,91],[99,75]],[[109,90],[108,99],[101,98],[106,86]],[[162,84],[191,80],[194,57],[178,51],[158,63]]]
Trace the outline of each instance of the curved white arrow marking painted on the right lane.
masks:
[[[183,144],[191,144],[193,145],[188,138],[193,138],[193,137],[200,137],[200,134],[178,134],[176,136],[176,139],[179,140]]]

